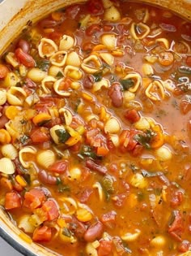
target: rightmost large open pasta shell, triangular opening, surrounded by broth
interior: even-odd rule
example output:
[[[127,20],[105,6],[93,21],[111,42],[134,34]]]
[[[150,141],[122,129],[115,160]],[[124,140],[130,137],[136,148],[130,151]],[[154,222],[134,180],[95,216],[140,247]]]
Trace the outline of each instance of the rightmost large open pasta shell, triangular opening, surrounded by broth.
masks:
[[[160,98],[165,97],[165,89],[162,80],[154,80],[145,90],[146,97],[152,101],[160,101]]]

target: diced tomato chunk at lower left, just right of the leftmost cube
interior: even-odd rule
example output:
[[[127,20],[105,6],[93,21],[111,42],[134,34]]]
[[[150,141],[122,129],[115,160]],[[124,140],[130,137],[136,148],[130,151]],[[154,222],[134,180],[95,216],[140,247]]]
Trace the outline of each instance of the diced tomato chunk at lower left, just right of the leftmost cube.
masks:
[[[24,194],[23,205],[33,210],[40,207],[45,200],[45,193],[42,190],[32,189]]]

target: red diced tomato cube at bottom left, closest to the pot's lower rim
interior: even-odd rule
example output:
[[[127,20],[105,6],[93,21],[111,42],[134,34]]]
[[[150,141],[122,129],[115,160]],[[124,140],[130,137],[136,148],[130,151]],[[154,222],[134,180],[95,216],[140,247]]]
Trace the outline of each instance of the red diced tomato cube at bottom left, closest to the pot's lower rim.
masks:
[[[33,232],[32,240],[33,241],[50,241],[52,237],[52,230],[47,226],[38,227]]]

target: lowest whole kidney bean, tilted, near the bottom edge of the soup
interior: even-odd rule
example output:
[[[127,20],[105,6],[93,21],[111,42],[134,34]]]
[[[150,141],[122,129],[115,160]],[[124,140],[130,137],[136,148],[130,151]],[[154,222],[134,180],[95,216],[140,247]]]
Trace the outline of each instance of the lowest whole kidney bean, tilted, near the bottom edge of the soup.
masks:
[[[92,224],[87,231],[85,232],[83,238],[85,241],[92,242],[96,239],[99,239],[102,233],[104,232],[104,225],[98,221]]]

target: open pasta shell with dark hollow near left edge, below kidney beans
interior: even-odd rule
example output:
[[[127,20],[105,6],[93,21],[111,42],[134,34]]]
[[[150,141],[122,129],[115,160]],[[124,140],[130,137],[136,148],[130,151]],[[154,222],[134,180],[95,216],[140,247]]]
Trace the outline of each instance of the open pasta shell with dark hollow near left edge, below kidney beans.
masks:
[[[14,106],[23,106],[27,93],[23,88],[12,86],[6,93],[7,102]]]

